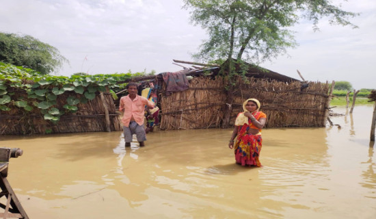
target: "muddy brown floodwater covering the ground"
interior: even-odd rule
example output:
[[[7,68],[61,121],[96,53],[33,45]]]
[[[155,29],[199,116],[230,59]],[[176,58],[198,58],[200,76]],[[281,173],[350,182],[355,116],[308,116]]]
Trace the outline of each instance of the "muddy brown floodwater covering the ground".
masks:
[[[345,108],[334,108],[345,114]],[[30,218],[376,218],[373,105],[326,128],[265,129],[261,168],[234,164],[232,129],[0,137]],[[293,115],[291,115],[293,116]]]

